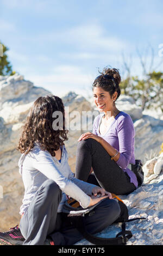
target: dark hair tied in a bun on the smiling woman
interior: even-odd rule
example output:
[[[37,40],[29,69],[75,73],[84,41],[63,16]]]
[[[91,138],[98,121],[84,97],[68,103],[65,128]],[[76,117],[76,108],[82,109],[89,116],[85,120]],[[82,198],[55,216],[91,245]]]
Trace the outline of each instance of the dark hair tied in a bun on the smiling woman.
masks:
[[[112,96],[115,92],[117,92],[117,98],[121,94],[120,82],[121,76],[117,69],[104,68],[102,72],[99,72],[99,75],[92,84],[92,89],[95,87],[101,87],[106,92],[110,93]]]

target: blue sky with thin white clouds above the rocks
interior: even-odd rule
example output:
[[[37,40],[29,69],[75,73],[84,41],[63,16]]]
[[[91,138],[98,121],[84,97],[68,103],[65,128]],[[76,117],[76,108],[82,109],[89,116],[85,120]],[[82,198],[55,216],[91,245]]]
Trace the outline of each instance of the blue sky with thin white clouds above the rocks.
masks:
[[[148,69],[152,47],[155,68],[162,32],[162,0],[0,0],[0,40],[13,70],[58,96],[91,95],[98,69],[108,65],[123,78],[122,54],[141,76],[136,49]]]

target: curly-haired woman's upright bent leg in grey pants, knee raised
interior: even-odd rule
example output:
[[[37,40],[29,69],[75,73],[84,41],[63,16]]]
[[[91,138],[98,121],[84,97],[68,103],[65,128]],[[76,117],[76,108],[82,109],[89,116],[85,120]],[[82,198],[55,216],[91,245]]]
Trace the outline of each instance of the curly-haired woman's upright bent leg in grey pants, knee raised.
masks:
[[[26,239],[23,245],[43,245],[48,234],[59,230],[61,220],[57,210],[61,197],[62,192],[53,180],[43,182],[20,222]]]

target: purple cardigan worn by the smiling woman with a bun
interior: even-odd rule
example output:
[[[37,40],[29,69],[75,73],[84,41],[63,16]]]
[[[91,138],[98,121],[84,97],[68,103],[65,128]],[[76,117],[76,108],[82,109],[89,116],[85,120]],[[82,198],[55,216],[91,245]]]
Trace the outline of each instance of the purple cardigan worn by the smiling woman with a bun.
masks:
[[[124,172],[130,177],[130,182],[132,182],[136,187],[137,179],[136,175],[129,169],[128,164],[135,164],[134,156],[134,143],[135,143],[135,130],[134,124],[130,115],[121,111],[115,117],[115,120],[109,126],[108,131],[102,136],[99,133],[99,124],[101,124],[101,119],[104,114],[99,114],[93,121],[92,133],[96,134],[106,142],[108,142],[112,147],[120,152],[120,158],[116,162],[118,166],[122,168]]]

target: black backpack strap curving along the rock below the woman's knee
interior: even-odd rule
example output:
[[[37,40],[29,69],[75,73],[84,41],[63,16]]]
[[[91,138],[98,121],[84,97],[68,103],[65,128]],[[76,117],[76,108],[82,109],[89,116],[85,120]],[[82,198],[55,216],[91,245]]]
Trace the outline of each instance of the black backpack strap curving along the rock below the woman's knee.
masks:
[[[90,234],[85,227],[84,216],[71,217],[71,221],[84,238],[94,245],[126,245],[127,241],[133,236],[131,231],[126,230],[125,222],[122,223],[122,231],[114,238],[102,238]]]

